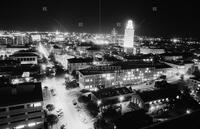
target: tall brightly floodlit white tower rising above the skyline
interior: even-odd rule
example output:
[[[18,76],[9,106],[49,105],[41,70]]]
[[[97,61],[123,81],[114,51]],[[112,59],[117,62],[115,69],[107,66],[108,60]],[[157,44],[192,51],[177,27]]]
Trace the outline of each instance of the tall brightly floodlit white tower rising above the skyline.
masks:
[[[135,47],[134,47],[134,26],[133,21],[129,20],[124,34],[124,52],[129,54],[135,54]]]

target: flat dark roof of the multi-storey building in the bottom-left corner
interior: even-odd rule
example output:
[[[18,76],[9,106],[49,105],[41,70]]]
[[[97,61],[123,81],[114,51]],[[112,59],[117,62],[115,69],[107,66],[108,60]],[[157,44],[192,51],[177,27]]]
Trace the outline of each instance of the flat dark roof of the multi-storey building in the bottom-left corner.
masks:
[[[43,101],[41,83],[0,87],[0,107]]]

